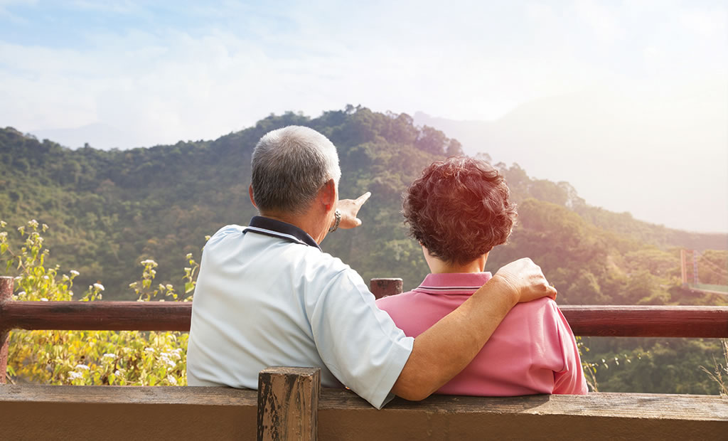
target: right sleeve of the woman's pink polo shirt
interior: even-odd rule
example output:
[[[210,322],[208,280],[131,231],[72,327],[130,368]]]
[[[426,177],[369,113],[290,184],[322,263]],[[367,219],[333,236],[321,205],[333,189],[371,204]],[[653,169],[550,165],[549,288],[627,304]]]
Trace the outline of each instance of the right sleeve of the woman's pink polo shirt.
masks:
[[[556,327],[558,329],[558,338],[561,342],[561,354],[563,356],[563,370],[554,372],[553,393],[554,394],[571,394],[585,395],[588,392],[587,381],[584,378],[584,370],[582,370],[582,360],[579,357],[579,348],[577,340],[574,338],[574,332],[571,332],[569,322],[563,316],[561,310],[553,304],[556,317]]]

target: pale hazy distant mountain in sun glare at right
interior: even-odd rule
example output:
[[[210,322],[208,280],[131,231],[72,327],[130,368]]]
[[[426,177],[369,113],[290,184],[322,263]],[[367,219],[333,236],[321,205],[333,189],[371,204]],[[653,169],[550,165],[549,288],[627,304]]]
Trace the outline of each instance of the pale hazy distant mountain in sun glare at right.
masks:
[[[696,86],[697,87],[697,86]],[[677,94],[676,94],[677,95]],[[728,232],[728,90],[587,91],[531,101],[494,121],[414,115],[464,152],[568,181],[594,206],[654,224]]]

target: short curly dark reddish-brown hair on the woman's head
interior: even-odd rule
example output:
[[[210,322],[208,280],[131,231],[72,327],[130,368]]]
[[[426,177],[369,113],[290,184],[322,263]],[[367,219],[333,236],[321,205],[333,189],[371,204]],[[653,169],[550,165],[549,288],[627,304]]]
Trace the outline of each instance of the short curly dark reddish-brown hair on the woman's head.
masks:
[[[448,157],[425,168],[405,192],[405,224],[432,256],[466,264],[507,240],[518,216],[509,195],[490,164]]]

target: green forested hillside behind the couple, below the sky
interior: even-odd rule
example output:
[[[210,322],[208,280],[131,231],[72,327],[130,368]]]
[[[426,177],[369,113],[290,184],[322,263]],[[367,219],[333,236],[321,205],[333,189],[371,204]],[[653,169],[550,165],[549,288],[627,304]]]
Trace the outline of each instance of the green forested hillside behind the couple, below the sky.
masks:
[[[178,284],[184,256],[199,257],[206,235],[223,225],[248,222],[255,214],[248,200],[253,147],[267,131],[291,124],[308,125],[336,144],[343,198],[372,192],[360,212],[363,226],[329,235],[323,249],[341,257],[365,280],[401,277],[405,289],[419,284],[427,266],[419,246],[406,235],[401,194],[425,165],[462,149],[438,130],[416,127],[406,114],[381,114],[363,107],[347,106],[314,119],[293,113],[271,115],[215,141],[124,151],[71,150],[13,128],[2,129],[0,219],[13,227],[28,219],[49,225],[45,237],[52,252],[50,262],[65,271],[78,270],[76,284],[81,286],[103,282],[107,300],[130,300],[127,285],[138,279],[143,259],[159,262],[157,281]],[[725,268],[727,235],[650,225],[629,214],[589,206],[566,182],[531,179],[517,164],[496,167],[507,176],[519,204],[519,219],[510,243],[491,252],[487,270],[531,257],[557,287],[560,303],[728,304],[727,296],[683,289],[678,257],[681,247],[700,249],[710,265]],[[711,274],[710,280],[701,281],[727,284],[721,273]],[[662,345],[660,354],[671,350],[669,344],[665,348],[664,343],[646,339],[594,344],[599,354],[608,354],[607,359],[625,354],[636,359],[655,345]],[[703,364],[717,354],[713,343],[679,344]],[[675,362],[676,354],[671,357]],[[689,386],[673,385],[670,390],[714,393],[703,372],[695,363],[691,366],[684,368],[695,377]],[[682,372],[682,368],[652,367],[648,385],[640,379],[646,367],[647,362],[631,363],[622,376],[613,369],[605,376],[606,384],[612,390],[665,391],[676,372]]]

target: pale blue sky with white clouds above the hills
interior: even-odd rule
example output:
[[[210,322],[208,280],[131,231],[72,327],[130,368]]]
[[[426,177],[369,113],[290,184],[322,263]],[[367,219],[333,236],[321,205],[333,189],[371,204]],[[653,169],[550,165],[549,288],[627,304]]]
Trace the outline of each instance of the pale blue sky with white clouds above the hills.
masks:
[[[676,176],[703,197],[676,211],[699,213],[638,217],[728,231],[725,1],[0,0],[0,126],[68,147],[213,139],[346,104],[496,121],[585,90],[629,97],[614,112],[654,115],[654,130],[700,122],[684,160],[701,179]],[[572,184],[614,211],[641,203]]]

